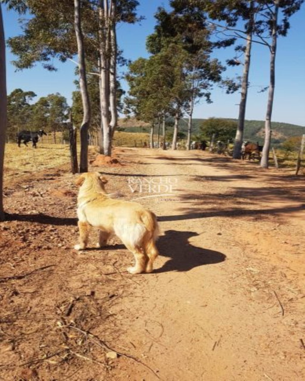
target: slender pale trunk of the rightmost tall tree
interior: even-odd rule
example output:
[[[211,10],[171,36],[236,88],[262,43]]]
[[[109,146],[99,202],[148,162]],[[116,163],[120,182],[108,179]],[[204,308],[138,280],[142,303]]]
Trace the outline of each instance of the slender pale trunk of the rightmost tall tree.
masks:
[[[277,26],[278,26],[278,11],[279,2],[276,0],[274,2],[274,14],[272,19],[272,43],[270,46],[270,84],[268,91],[268,103],[267,112],[265,120],[265,141],[262,152],[262,160],[260,166],[262,168],[268,168],[269,166],[269,151],[271,143],[271,116],[274,98],[274,87],[275,87],[275,56],[276,56],[276,42],[277,42]]]

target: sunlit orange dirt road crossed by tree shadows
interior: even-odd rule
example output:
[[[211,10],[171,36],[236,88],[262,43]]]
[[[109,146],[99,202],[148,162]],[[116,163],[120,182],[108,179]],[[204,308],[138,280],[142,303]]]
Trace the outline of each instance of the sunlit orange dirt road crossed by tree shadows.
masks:
[[[151,369],[120,358],[110,379],[304,379],[300,179],[204,152],[124,157],[137,179],[175,185],[172,196],[129,194],[159,216],[161,256],[111,312],[117,347]]]

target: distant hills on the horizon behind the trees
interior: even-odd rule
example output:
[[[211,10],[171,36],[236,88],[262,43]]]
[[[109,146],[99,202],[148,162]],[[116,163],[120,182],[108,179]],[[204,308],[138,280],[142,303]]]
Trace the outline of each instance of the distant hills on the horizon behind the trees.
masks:
[[[224,118],[226,119],[226,118]],[[193,119],[193,134],[200,134],[200,126],[205,119]],[[233,120],[237,122],[237,119],[227,118],[226,120]],[[149,124],[141,122],[134,118],[120,119],[119,127],[123,127],[126,132],[149,132]],[[169,127],[168,130],[172,130],[173,127]],[[187,121],[180,120],[179,130],[187,131]],[[272,140],[273,144],[281,143],[292,136],[302,136],[305,134],[305,127],[281,123],[272,122]],[[245,120],[244,138],[249,141],[262,143],[265,136],[265,121],[264,120]]]

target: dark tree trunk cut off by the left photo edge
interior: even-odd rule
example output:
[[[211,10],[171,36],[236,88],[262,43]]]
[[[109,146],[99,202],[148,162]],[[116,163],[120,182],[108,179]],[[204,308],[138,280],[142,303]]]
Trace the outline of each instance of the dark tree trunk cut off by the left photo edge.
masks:
[[[4,150],[7,125],[7,96],[6,96],[6,69],[5,69],[5,37],[3,29],[2,10],[0,5],[0,221],[4,220],[3,210],[3,171]]]

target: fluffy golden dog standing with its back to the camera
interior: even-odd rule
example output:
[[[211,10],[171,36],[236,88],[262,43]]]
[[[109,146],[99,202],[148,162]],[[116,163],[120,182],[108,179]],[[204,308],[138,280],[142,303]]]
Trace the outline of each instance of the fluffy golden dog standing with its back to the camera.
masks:
[[[159,255],[155,245],[158,237],[157,218],[136,202],[111,199],[105,191],[106,178],[99,172],[82,173],[76,185],[79,241],[76,250],[87,247],[91,227],[100,230],[98,247],[103,247],[111,234],[116,234],[135,256],[131,274],[152,272],[152,263]]]

